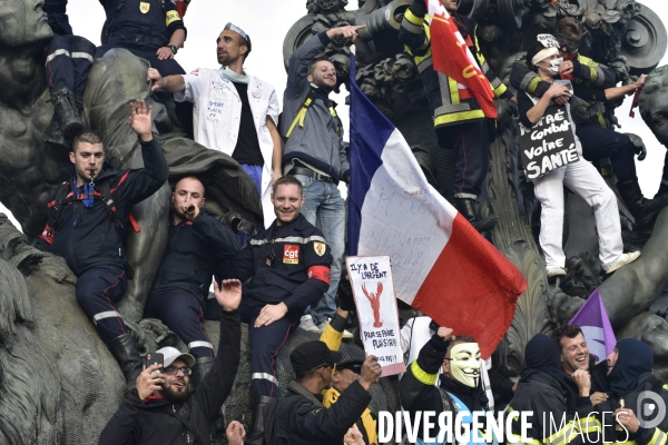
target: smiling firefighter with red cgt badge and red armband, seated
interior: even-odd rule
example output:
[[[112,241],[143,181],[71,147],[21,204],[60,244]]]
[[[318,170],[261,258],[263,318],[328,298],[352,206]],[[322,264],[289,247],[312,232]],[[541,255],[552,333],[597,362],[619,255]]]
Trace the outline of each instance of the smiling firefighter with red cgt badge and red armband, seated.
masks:
[[[323,234],[301,214],[302,182],[285,176],[274,182],[276,220],[226,267],[244,283],[242,320],[248,323],[250,392],[254,413],[278,398],[276,356],[299,324],[304,309],[330,287],[332,255]],[[253,419],[257,416],[254,414]],[[255,425],[250,435],[255,432]]]

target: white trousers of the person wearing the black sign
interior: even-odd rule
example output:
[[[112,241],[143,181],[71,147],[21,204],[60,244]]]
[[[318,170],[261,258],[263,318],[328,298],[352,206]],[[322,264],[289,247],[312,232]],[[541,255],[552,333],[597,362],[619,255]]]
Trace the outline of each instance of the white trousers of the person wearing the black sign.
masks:
[[[542,206],[540,217],[540,247],[548,269],[564,267],[561,247],[563,236],[563,186],[582,197],[593,208],[599,235],[599,258],[608,268],[622,254],[621,226],[617,198],[596,167],[580,160],[560,167],[533,181],[536,196]]]

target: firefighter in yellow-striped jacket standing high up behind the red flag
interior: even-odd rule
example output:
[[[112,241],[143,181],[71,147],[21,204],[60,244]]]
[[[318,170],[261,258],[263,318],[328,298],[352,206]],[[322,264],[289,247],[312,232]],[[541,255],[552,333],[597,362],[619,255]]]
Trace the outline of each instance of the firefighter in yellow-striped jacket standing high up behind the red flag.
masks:
[[[504,106],[517,108],[510,102],[512,93],[494,75],[480,51],[475,34],[477,23],[456,14],[455,0],[441,1],[490,81],[494,96],[504,99]],[[495,137],[495,125],[493,120],[485,118],[480,105],[468,93],[468,90],[463,90],[466,93],[460,92],[454,79],[434,70],[430,29],[424,22],[425,14],[424,0],[414,0],[401,23],[399,39],[415,58],[434,118],[439,145],[456,152],[454,207],[477,230],[481,233],[491,230],[497,225],[498,218],[492,215],[481,220],[478,217],[477,199],[488,175],[490,144]]]

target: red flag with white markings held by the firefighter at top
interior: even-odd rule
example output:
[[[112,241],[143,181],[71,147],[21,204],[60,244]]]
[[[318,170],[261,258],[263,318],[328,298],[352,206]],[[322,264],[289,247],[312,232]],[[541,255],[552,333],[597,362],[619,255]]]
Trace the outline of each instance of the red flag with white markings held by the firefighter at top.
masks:
[[[480,69],[456,23],[440,0],[425,1],[434,69],[458,81],[461,97],[472,95],[484,116],[497,118],[492,85]],[[470,38],[474,39],[475,36]]]

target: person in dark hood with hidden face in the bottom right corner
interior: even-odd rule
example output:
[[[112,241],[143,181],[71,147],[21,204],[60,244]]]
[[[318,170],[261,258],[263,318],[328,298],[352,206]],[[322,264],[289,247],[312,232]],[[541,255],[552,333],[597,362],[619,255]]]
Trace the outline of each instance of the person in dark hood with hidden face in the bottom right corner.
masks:
[[[661,412],[661,405],[665,408],[668,404],[668,387],[652,374],[651,348],[635,338],[623,338],[610,356],[610,398],[597,406],[602,416],[603,439],[665,445],[668,416],[665,409]],[[662,418],[658,417],[661,415]]]

